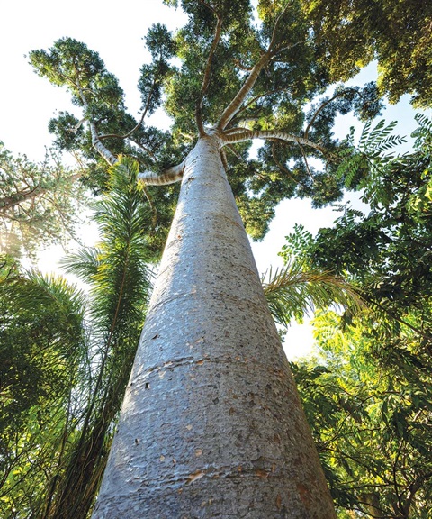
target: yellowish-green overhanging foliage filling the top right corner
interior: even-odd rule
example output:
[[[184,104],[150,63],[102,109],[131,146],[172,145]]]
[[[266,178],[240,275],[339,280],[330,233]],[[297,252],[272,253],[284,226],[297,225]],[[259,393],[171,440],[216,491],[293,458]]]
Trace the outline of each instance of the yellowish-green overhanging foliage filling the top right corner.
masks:
[[[431,105],[430,3],[302,0],[302,7],[330,79],[347,80],[377,59],[379,87],[392,103],[409,93],[415,106]]]

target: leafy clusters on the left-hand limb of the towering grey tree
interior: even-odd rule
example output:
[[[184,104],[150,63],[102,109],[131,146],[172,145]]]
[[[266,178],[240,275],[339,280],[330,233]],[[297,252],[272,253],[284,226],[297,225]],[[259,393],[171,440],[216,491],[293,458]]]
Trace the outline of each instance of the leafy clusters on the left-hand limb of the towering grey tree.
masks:
[[[166,27],[157,24],[145,38],[151,62],[143,65],[139,77],[142,114],[139,120],[128,114],[124,96],[117,79],[106,70],[97,52],[84,43],[63,38],[49,50],[32,50],[31,65],[41,76],[60,87],[65,87],[77,106],[76,114],[59,112],[49,121],[49,131],[56,136],[58,150],[76,153],[85,165],[83,182],[95,195],[105,192],[109,182],[109,162],[94,148],[98,139],[112,154],[133,156],[141,170],[163,170],[183,156],[184,147],[174,146],[171,135],[147,126],[145,118],[153,114],[162,101],[163,87],[170,76],[169,64],[175,51]],[[178,189],[163,191],[148,188],[148,200],[153,214],[145,223],[148,244],[153,260],[159,258],[171,222]],[[151,243],[151,244],[150,244]]]

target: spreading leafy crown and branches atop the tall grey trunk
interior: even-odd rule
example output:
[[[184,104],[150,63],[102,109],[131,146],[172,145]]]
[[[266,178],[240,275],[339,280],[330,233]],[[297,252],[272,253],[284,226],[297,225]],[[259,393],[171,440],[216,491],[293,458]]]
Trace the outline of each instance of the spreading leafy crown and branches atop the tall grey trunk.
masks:
[[[103,171],[118,153],[138,159],[144,171],[160,173],[181,166],[197,136],[216,125],[228,139],[223,159],[247,232],[257,239],[285,197],[312,196],[322,205],[341,196],[343,182],[335,181],[334,161],[327,160],[339,145],[331,126],[338,113],[379,112],[376,88],[339,87],[331,102],[321,100],[305,115],[305,106],[329,86],[329,75],[318,65],[300,3],[261,3],[257,23],[248,2],[184,2],[182,7],[189,16],[184,28],[173,36],[157,25],[146,37],[152,62],[141,69],[139,118],[127,113],[117,80],[85,44],[65,38],[49,50],[31,52],[37,73],[66,87],[81,108],[78,116],[62,113],[49,123],[58,147],[80,150],[90,182],[103,189]],[[174,54],[180,66],[173,64]],[[170,133],[146,124],[162,99],[161,88],[173,118]],[[232,102],[223,110],[227,99]],[[249,159],[247,141],[256,138],[268,142],[258,159]],[[326,159],[324,170],[312,168],[311,158]],[[162,240],[174,195],[148,187],[148,196]]]

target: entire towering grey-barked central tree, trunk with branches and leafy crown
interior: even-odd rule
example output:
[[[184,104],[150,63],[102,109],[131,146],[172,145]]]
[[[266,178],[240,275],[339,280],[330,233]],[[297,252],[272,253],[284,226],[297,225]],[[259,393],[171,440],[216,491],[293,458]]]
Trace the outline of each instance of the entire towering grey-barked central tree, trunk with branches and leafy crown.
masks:
[[[148,186],[182,180],[94,517],[335,517],[236,202],[260,238],[284,197],[337,199],[338,155],[351,149],[332,124],[350,110],[377,114],[376,89],[339,87],[305,117],[338,74],[304,5],[261,1],[257,23],[245,0],[182,7],[189,22],[174,39],[161,25],[148,32],[138,119],[83,43],[31,52],[37,73],[81,110],[49,127],[60,148],[83,154],[89,184],[105,189],[121,154],[137,160],[154,259],[176,191]],[[163,94],[169,133],[146,125]],[[254,139],[265,141],[256,160]]]

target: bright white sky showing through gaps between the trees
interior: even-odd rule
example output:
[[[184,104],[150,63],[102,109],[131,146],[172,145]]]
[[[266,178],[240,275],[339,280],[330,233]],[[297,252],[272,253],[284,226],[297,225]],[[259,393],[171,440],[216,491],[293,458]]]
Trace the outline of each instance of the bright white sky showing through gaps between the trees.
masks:
[[[0,141],[14,153],[26,153],[29,159],[41,160],[44,147],[51,136],[47,130],[49,118],[60,110],[70,110],[67,93],[37,77],[25,55],[30,50],[47,49],[58,38],[69,36],[84,41],[99,52],[106,67],[120,80],[126,92],[130,112],[138,115],[139,94],[136,84],[139,68],[147,59],[142,37],[152,23],[166,23],[169,29],[184,22],[184,15],[162,5],[159,0],[14,0],[2,5],[0,32],[0,66],[2,96],[0,96]],[[362,73],[362,84],[374,78],[374,68]],[[383,114],[387,121],[398,120],[397,129],[409,135],[414,129],[413,112],[408,98]],[[349,117],[338,122],[338,135],[345,136],[354,121]],[[352,198],[352,197],[351,197]],[[337,216],[338,214],[336,214]],[[284,245],[284,236],[302,223],[310,232],[330,225],[335,219],[331,208],[312,210],[307,201],[291,200],[280,205],[271,230],[262,243],[253,245],[258,269],[263,272],[270,264],[280,264],[277,252]],[[41,256],[41,267],[55,268],[50,259],[52,251]],[[287,340],[289,357],[311,347],[311,331],[293,326]],[[293,344],[293,348],[290,347]]]

